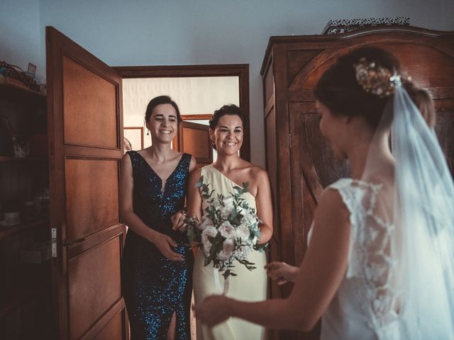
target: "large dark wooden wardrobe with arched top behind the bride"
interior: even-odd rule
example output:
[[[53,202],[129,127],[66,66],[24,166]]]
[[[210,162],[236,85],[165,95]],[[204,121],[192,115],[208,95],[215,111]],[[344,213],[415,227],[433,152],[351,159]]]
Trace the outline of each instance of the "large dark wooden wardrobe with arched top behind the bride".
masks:
[[[274,195],[272,260],[301,263],[323,188],[349,175],[347,162],[333,157],[321,135],[312,90],[337,57],[365,45],[394,53],[413,81],[431,91],[438,113],[436,132],[454,172],[454,32],[400,26],[342,35],[271,37],[261,74],[266,165]],[[289,284],[281,288],[272,283],[271,296],[285,297],[291,289]],[[318,339],[318,329],[309,334],[276,331],[272,336]]]

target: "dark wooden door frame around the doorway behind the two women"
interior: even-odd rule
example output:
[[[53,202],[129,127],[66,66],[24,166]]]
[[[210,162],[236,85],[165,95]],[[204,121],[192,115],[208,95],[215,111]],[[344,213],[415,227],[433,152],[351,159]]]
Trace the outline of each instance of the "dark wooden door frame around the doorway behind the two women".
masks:
[[[112,67],[121,78],[184,78],[238,77],[240,108],[245,118],[245,136],[240,149],[241,158],[250,162],[249,64],[204,64],[175,66],[117,66]],[[187,119],[187,118],[185,118]]]

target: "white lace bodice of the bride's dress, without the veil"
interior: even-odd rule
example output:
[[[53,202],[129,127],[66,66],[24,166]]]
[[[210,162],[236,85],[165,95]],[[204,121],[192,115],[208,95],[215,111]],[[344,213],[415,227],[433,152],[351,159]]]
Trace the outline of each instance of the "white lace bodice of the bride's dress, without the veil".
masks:
[[[399,271],[390,256],[397,235],[386,190],[353,179],[329,188],[350,212],[350,249],[345,278],[323,314],[321,339],[394,339]]]

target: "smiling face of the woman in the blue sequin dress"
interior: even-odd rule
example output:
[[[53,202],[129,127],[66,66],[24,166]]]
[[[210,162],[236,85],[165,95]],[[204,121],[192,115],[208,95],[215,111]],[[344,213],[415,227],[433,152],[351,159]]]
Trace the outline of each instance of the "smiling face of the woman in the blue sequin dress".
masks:
[[[178,130],[177,111],[171,104],[160,104],[153,108],[146,123],[154,142],[172,142]]]

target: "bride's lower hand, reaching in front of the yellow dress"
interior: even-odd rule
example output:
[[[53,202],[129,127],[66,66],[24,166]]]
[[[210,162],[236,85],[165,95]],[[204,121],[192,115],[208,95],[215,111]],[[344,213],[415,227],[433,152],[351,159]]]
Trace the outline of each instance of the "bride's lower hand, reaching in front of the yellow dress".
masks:
[[[211,295],[206,297],[201,304],[193,306],[192,309],[196,314],[197,320],[207,324],[209,327],[213,327],[230,317],[228,312],[229,300],[224,295]]]

